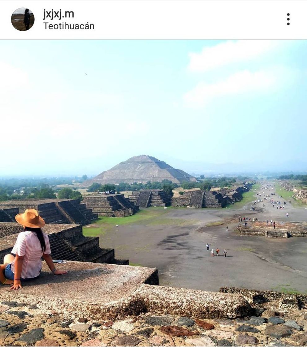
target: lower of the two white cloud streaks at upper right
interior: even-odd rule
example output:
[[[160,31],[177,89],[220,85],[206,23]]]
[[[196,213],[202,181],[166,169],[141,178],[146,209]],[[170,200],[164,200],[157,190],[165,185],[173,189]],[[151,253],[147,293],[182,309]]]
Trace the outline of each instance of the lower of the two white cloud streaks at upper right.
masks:
[[[184,101],[191,107],[199,107],[219,96],[265,91],[276,84],[277,78],[275,73],[269,71],[240,71],[223,81],[198,83],[184,95]]]

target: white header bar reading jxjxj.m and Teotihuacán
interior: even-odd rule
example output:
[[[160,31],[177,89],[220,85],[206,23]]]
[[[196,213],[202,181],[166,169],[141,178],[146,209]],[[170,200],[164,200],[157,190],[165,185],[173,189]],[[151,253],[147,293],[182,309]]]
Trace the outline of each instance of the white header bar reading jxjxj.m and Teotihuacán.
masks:
[[[24,32],[11,24],[21,6],[35,17]],[[307,39],[306,1],[27,0],[1,7],[1,39]]]

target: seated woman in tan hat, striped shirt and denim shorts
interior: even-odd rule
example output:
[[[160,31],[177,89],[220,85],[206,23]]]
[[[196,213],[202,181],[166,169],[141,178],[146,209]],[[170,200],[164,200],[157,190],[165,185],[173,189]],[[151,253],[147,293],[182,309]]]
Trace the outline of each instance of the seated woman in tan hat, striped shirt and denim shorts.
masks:
[[[41,257],[54,275],[63,275],[67,271],[59,271],[54,267],[50,256],[51,249],[48,236],[42,231],[45,221],[34,209],[27,209],[15,217],[16,221],[24,227],[17,237],[11,253],[4,257],[5,277],[14,280],[10,289],[22,288],[21,280],[28,281],[40,276],[42,270]],[[1,266],[2,267],[2,266]],[[1,275],[0,275],[1,276]]]

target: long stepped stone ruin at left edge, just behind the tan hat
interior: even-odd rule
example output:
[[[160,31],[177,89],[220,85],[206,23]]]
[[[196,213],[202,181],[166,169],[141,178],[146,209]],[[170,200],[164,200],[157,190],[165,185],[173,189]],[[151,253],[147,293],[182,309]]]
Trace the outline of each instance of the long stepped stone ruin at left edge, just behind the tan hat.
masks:
[[[26,209],[39,211],[45,222],[51,224],[87,225],[98,218],[78,199],[20,199],[0,202],[0,222],[15,222],[15,215]]]

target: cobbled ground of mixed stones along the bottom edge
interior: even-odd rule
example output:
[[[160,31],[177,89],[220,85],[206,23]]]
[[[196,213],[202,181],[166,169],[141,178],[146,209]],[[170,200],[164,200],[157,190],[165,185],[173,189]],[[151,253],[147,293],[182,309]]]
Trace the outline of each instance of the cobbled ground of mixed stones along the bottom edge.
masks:
[[[191,319],[145,313],[122,321],[69,319],[36,305],[3,301],[1,346],[307,346],[307,311],[258,305],[244,319]]]

